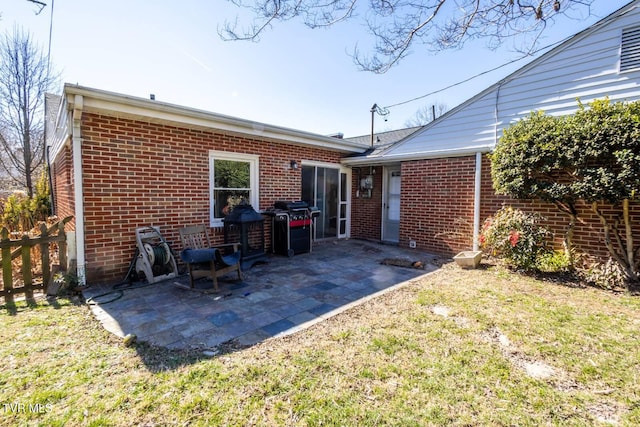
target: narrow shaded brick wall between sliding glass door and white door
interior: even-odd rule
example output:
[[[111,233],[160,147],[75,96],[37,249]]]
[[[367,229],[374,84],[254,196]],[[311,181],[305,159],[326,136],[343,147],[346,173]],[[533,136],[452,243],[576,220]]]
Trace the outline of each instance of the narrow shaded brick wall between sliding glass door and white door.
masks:
[[[369,167],[353,168],[351,186],[351,237],[380,240],[382,238],[382,167],[375,168],[371,198],[362,197],[360,179],[369,175]],[[373,171],[373,170],[372,170]],[[358,192],[360,191],[360,197]]]

